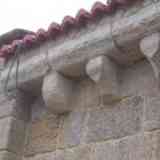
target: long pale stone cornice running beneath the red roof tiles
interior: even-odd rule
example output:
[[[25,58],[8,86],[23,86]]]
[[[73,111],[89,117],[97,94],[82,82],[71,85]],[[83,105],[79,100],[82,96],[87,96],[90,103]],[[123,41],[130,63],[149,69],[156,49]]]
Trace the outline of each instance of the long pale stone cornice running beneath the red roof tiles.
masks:
[[[108,18],[95,29],[79,37],[73,39],[71,37],[63,43],[51,42],[31,50],[33,54],[21,57],[22,63],[18,72],[19,87],[33,91],[32,87],[36,86],[37,82],[42,84],[49,69],[73,79],[81,78],[87,75],[85,71],[87,62],[102,55],[121,65],[140,60],[144,57],[139,48],[140,40],[145,35],[159,30],[159,12],[160,2],[157,2],[156,7],[151,3],[133,15],[116,19],[112,25],[108,23],[111,20]],[[6,82],[8,69],[9,67],[6,67],[1,74],[2,86]],[[8,89],[15,88],[15,66],[10,77]]]

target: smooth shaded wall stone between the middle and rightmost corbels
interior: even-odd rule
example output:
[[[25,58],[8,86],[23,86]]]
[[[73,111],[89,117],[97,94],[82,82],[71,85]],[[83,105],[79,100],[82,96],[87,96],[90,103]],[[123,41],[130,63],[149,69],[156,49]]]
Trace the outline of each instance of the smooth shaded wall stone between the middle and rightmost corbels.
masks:
[[[119,87],[122,96],[159,95],[157,80],[148,61],[140,61],[136,65],[123,68],[119,74],[121,75]]]

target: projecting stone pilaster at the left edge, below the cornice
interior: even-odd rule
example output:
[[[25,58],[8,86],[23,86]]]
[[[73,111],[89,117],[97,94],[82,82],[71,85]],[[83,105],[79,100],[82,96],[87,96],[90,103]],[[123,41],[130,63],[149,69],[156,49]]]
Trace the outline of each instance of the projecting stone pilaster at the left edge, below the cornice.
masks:
[[[26,128],[30,115],[30,100],[14,91],[0,95],[0,159],[21,160]]]

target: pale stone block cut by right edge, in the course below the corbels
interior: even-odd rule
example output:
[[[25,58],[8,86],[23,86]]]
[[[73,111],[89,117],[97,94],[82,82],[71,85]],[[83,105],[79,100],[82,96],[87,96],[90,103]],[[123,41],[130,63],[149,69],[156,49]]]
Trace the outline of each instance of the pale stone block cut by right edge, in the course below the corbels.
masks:
[[[144,111],[144,130],[160,129],[160,96],[147,97]]]

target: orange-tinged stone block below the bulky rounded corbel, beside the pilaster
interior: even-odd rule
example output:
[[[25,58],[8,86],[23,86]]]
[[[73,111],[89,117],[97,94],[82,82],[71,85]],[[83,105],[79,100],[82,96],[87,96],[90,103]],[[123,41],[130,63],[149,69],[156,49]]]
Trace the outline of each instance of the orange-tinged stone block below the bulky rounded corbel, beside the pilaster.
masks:
[[[39,104],[39,103],[37,103]],[[36,107],[37,104],[33,106]],[[41,109],[40,109],[41,110]],[[30,125],[25,155],[34,155],[41,152],[53,152],[56,149],[56,138],[58,136],[59,118],[44,110],[35,116]]]

